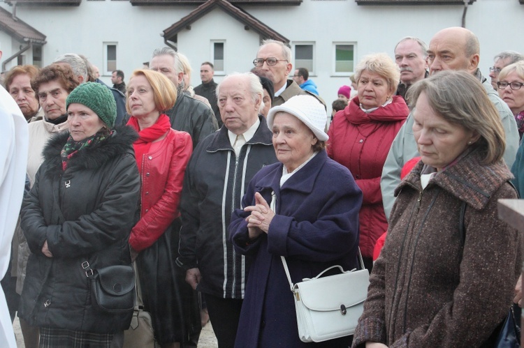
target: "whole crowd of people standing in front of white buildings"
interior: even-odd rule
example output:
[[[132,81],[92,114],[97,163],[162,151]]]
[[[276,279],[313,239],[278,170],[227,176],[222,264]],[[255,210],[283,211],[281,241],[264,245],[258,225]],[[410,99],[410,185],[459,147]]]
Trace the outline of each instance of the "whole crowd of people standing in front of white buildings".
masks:
[[[522,236],[497,200],[524,194],[524,56],[495,56],[488,81],[479,45],[402,38],[333,112],[276,40],[219,83],[202,63],[195,88],[170,47],[113,86],[78,54],[15,66],[0,97],[29,151],[2,287],[25,346],[124,347],[133,308],[94,289],[133,266],[162,348],[196,347],[208,319],[220,348],[491,347],[521,303]],[[355,334],[302,342],[287,277],[358,268],[359,250]]]

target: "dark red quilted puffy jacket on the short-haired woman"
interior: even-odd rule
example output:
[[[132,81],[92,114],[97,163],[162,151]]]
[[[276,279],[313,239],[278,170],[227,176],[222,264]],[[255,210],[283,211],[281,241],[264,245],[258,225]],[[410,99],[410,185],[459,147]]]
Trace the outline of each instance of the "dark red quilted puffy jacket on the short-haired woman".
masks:
[[[360,243],[364,257],[373,256],[374,244],[388,229],[382,206],[380,177],[389,148],[406,121],[409,109],[402,97],[366,114],[358,97],[335,114],[329,128],[328,155],[349,169],[363,192]]]

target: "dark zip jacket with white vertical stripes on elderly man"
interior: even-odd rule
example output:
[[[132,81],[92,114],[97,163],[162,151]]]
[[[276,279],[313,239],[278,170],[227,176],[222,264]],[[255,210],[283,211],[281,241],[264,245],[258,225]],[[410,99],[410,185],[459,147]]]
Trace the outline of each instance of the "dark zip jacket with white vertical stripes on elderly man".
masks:
[[[184,270],[198,267],[202,279],[196,289],[219,298],[244,298],[245,257],[228,239],[231,213],[240,208],[256,172],[277,162],[272,133],[263,116],[259,119],[259,129],[238,157],[222,126],[198,144],[184,176],[177,264]]]

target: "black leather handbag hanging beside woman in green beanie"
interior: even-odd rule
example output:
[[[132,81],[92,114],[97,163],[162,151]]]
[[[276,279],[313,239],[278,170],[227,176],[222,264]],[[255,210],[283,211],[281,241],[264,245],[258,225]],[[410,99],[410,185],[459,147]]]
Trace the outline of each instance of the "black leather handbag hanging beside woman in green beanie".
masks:
[[[129,312],[135,306],[135,272],[133,267],[117,265],[92,270],[89,262],[82,263],[91,280],[94,307],[104,312]]]

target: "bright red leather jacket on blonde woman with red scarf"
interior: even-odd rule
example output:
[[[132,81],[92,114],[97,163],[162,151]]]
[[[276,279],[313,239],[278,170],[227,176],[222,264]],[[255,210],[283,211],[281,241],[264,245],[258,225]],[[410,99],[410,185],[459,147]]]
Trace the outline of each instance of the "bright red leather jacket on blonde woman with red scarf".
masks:
[[[193,151],[191,135],[171,129],[142,160],[140,220],[131,230],[129,244],[136,251],[150,247],[180,215],[180,192]]]

